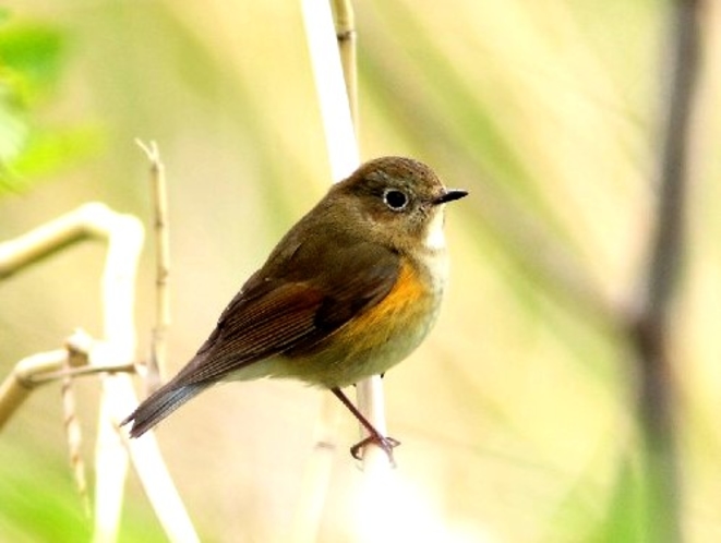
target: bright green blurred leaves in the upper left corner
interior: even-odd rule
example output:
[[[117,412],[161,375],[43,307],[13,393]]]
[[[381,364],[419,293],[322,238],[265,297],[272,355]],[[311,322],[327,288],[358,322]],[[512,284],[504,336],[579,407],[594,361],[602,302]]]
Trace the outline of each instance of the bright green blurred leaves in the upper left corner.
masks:
[[[35,113],[56,99],[67,63],[67,34],[55,25],[0,14],[0,194],[85,157],[98,146],[89,125],[39,125]]]

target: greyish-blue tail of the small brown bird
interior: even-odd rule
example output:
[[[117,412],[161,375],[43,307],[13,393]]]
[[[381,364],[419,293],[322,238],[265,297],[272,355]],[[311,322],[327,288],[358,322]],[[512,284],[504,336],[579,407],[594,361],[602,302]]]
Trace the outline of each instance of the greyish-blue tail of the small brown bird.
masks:
[[[207,383],[179,386],[171,381],[148,396],[120,425],[132,422],[130,436],[140,437],[208,386]]]

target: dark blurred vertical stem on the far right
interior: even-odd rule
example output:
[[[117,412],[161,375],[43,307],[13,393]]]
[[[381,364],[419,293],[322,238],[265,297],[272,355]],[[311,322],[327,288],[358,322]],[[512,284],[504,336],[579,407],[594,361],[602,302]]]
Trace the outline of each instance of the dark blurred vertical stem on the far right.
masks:
[[[659,198],[640,315],[633,326],[640,369],[639,420],[654,520],[648,541],[681,541],[676,394],[669,353],[671,299],[684,256],[689,119],[699,57],[699,2],[673,4],[670,95],[659,158]],[[652,524],[652,526],[651,526]]]

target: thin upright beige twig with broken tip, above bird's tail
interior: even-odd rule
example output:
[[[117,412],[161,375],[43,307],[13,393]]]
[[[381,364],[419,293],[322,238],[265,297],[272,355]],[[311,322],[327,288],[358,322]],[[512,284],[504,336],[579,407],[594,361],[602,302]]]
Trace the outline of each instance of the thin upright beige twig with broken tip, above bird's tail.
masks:
[[[165,379],[166,335],[170,325],[170,241],[168,233],[168,191],[165,178],[165,165],[155,142],[148,145],[141,140],[135,143],[151,161],[151,186],[154,210],[155,231],[155,326],[151,342],[151,359],[147,363],[145,386],[147,393],[157,390]]]

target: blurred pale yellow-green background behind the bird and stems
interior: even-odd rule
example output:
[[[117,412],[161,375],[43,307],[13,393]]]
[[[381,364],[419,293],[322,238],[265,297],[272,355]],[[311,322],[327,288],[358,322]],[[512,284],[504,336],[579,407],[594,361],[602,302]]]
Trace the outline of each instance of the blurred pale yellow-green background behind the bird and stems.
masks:
[[[385,378],[396,503],[414,541],[645,541],[625,317],[653,220],[671,2],[357,2],[364,158],[409,155],[471,196],[450,206],[453,277],[430,339]],[[687,245],[672,352],[687,541],[721,539],[721,5],[702,17]],[[10,1],[0,12],[0,239],[100,201],[149,227],[169,182],[169,372],[328,183],[298,2]],[[104,246],[0,283],[0,372],[101,331]],[[140,359],[154,317],[146,244]],[[140,384],[140,383],[139,383]],[[59,385],[0,434],[0,540],[84,541]],[[95,378],[77,383],[91,462]],[[323,393],[231,384],[157,431],[203,541],[287,541]],[[320,541],[349,539],[362,473],[340,415]],[[121,541],[164,541],[131,476]],[[418,530],[416,534],[413,530]]]

